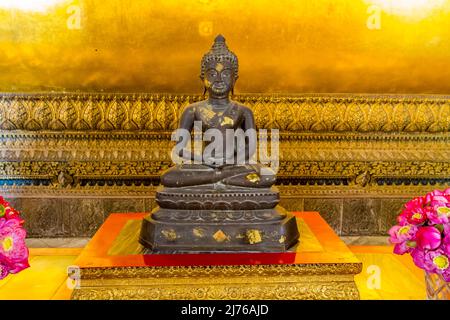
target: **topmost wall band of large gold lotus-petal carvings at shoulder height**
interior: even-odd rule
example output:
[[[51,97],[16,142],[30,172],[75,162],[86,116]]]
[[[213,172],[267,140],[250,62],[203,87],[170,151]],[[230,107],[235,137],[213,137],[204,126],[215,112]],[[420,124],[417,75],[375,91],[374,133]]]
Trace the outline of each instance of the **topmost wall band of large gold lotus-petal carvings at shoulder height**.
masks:
[[[1,94],[2,130],[171,131],[200,95]],[[401,95],[237,95],[258,128],[310,132],[448,132],[450,98]]]

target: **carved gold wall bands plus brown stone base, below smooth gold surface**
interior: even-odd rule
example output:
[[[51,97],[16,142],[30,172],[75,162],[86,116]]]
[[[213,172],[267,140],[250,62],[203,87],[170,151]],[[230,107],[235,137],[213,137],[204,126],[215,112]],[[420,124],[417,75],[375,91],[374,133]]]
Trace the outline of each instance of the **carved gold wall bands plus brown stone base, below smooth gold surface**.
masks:
[[[91,236],[112,212],[150,211],[171,130],[199,95],[0,94],[0,193],[32,237]],[[340,235],[385,235],[406,199],[450,184],[450,99],[237,95],[280,129],[281,204]]]

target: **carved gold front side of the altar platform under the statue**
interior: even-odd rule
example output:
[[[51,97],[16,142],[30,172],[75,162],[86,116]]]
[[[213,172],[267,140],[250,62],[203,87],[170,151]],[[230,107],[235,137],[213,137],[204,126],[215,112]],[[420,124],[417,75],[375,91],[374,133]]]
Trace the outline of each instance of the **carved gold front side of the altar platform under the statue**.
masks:
[[[72,299],[359,299],[361,263],[86,268]]]

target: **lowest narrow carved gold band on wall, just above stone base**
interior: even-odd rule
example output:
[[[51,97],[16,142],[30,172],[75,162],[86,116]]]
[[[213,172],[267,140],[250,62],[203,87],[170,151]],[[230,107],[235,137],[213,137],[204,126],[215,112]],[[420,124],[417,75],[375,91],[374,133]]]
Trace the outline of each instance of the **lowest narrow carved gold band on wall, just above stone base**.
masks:
[[[3,161],[1,179],[52,179],[61,172],[73,179],[158,179],[161,171],[170,166],[168,161]],[[450,162],[431,161],[284,161],[280,163],[277,178],[301,180],[309,178],[347,179],[348,184],[390,184],[389,179],[448,179]],[[55,181],[53,181],[55,180]],[[396,183],[395,180],[392,183]],[[391,183],[391,184],[392,184]],[[301,184],[301,183],[299,183]]]

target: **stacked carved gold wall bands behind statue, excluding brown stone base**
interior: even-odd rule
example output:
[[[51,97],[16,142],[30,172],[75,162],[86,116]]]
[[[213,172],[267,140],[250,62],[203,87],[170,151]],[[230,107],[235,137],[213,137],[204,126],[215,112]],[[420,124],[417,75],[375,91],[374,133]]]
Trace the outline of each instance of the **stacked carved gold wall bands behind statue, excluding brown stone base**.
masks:
[[[2,176],[11,181],[40,179],[51,185],[61,184],[59,178],[63,185],[89,179],[157,183],[171,165],[170,133],[180,111],[201,98],[0,95]],[[313,184],[382,186],[450,179],[446,96],[239,95],[235,99],[253,109],[259,128],[280,130],[280,183],[313,179]]]

